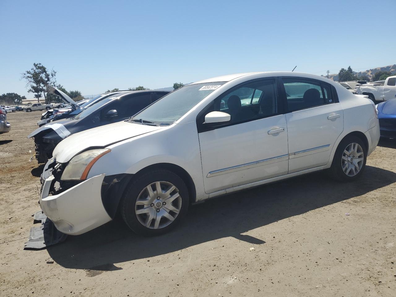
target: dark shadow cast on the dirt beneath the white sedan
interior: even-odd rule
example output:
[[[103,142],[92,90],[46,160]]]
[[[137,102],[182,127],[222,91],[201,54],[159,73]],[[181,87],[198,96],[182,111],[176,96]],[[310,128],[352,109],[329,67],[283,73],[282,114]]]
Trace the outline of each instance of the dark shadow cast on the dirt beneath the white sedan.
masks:
[[[86,234],[69,236],[66,242],[49,247],[48,253],[66,268],[114,270],[116,263],[162,255],[227,236],[265,244],[265,238],[243,233],[395,181],[396,173],[371,166],[366,166],[361,179],[352,183],[338,183],[324,172],[312,173],[191,206],[181,225],[162,236],[138,236],[116,219]]]

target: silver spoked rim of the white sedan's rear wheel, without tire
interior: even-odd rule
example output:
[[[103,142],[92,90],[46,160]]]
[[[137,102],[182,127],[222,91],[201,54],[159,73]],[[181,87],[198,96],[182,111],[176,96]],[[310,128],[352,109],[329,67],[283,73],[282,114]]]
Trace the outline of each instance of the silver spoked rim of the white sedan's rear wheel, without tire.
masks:
[[[364,152],[360,144],[350,143],[341,158],[341,168],[348,176],[357,175],[363,167]]]

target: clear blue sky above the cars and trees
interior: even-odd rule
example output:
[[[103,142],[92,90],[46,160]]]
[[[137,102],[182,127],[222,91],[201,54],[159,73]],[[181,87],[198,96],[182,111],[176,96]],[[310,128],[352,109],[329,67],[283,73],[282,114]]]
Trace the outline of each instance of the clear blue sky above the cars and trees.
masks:
[[[0,0],[0,93],[34,62],[83,95],[222,74],[396,63],[396,1]],[[388,25],[387,25],[388,24]]]

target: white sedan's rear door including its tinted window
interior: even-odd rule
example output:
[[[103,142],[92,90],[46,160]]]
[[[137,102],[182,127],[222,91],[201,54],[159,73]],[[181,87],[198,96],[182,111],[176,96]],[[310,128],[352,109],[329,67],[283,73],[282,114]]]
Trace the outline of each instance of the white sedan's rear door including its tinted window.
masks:
[[[289,173],[326,165],[344,128],[335,88],[319,80],[283,77]]]

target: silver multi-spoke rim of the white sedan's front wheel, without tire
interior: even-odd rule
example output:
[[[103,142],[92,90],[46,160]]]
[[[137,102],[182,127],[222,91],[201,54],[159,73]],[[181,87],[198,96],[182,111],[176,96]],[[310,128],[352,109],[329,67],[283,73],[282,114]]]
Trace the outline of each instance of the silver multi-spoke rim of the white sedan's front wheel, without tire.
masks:
[[[181,196],[175,185],[156,181],[143,188],[135,203],[135,215],[143,226],[164,228],[179,215]]]

